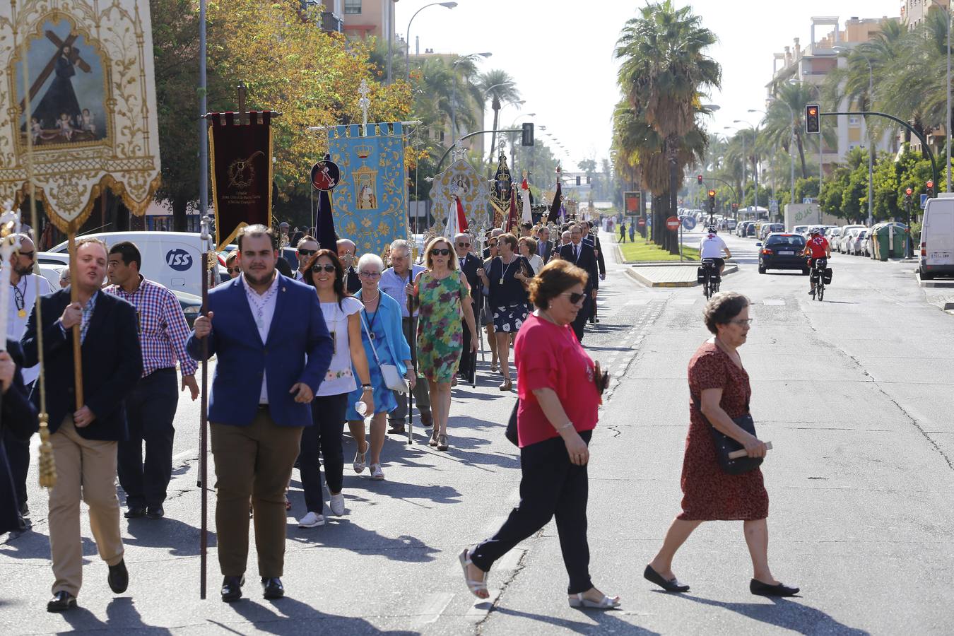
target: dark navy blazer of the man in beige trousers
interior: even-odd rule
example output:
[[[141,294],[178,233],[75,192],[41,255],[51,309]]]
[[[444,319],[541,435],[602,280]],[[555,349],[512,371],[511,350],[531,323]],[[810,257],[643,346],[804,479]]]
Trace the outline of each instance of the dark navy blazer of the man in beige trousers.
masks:
[[[70,288],[40,298],[43,312],[43,349],[47,382],[47,412],[50,432],[76,411],[73,384],[73,330],[64,333],[59,326],[63,310],[70,304]],[[24,366],[39,361],[36,339],[36,309],[27,322],[23,345]],[[98,292],[93,317],[80,349],[83,359],[83,400],[95,420],[76,433],[81,438],[99,441],[125,441],[124,400],[142,376],[142,350],[139,346],[135,307],[120,297]],[[33,404],[39,406],[39,381],[33,383]]]

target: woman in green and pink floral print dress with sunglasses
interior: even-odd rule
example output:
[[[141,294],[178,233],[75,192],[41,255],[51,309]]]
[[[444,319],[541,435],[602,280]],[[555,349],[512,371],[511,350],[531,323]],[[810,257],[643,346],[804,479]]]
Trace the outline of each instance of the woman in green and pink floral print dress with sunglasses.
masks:
[[[434,238],[425,249],[427,271],[414,280],[414,301],[418,314],[418,366],[430,388],[430,409],[434,431],[429,444],[447,450],[447,416],[450,413],[450,383],[464,349],[461,314],[470,330],[470,348],[480,341],[474,323],[467,279],[457,271],[454,248],[446,238]]]

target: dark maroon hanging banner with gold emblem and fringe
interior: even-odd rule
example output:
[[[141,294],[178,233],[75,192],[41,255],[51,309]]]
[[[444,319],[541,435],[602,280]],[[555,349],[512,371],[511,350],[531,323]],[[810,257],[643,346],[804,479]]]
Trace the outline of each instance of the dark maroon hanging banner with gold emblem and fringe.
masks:
[[[272,226],[272,113],[209,113],[217,251],[246,225]]]

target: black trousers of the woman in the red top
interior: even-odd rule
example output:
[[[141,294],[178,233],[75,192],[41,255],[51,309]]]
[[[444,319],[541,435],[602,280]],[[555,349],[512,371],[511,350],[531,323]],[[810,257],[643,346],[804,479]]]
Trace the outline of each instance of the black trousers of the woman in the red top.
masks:
[[[592,431],[580,434],[590,444]],[[516,544],[556,516],[563,563],[570,575],[568,594],[590,589],[590,544],[587,543],[587,467],[570,462],[563,438],[520,449],[520,503],[492,539],[477,545],[470,560],[485,572]]]

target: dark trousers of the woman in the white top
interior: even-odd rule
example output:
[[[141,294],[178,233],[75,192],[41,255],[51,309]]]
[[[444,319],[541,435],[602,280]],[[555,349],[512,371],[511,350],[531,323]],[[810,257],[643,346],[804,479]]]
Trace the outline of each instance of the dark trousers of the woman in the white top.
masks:
[[[305,426],[301,431],[299,473],[304,489],[304,503],[309,512],[317,515],[324,509],[324,489],[321,488],[321,471],[318,454],[324,458],[324,480],[331,492],[342,491],[344,479],[344,412],[348,403],[347,393],[337,396],[318,396],[311,403],[311,421],[314,426]]]

